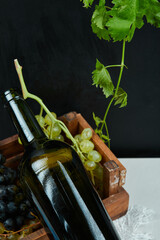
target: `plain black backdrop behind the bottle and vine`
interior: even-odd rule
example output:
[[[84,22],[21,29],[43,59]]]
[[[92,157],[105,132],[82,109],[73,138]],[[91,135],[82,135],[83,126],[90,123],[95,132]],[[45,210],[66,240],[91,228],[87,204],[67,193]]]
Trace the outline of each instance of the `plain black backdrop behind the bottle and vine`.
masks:
[[[23,66],[28,90],[57,115],[80,112],[95,127],[92,112],[102,117],[108,100],[92,86],[96,58],[120,64],[122,43],[99,40],[90,27],[91,9],[79,0],[0,1],[0,91],[19,88],[14,69]],[[111,149],[118,157],[160,156],[160,29],[145,25],[126,45],[121,87],[128,105],[108,115]],[[119,70],[111,71],[113,82]],[[35,114],[39,106],[31,104]],[[0,103],[0,139],[16,133]]]

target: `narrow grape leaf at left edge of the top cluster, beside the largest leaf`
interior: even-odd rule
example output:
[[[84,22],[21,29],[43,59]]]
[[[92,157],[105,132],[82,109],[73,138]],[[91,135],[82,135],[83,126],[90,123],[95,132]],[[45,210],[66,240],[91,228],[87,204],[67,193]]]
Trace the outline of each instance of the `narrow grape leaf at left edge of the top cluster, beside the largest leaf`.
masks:
[[[106,7],[101,3],[101,5],[95,6],[95,11],[93,12],[92,19],[91,19],[91,26],[92,30],[97,36],[104,40],[110,40],[110,36],[108,33],[108,29],[106,28],[105,24],[109,20],[109,15],[106,10]]]

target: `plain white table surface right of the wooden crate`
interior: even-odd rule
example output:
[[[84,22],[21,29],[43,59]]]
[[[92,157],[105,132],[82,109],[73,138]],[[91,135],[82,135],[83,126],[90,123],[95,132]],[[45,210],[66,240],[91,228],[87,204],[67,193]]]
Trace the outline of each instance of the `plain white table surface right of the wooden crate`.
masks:
[[[160,240],[160,158],[120,158],[127,169],[124,188],[130,196],[130,206],[141,205],[155,213],[144,230]]]

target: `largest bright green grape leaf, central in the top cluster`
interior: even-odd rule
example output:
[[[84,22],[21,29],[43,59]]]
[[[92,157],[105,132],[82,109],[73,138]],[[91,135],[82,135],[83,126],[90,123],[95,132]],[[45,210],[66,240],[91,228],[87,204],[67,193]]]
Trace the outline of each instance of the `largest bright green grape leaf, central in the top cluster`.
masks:
[[[113,0],[114,6],[109,11],[111,18],[106,23],[109,34],[114,41],[121,41],[129,35],[132,39],[134,31],[143,26],[144,9],[139,11],[139,1],[144,0]],[[132,32],[132,34],[130,33]]]

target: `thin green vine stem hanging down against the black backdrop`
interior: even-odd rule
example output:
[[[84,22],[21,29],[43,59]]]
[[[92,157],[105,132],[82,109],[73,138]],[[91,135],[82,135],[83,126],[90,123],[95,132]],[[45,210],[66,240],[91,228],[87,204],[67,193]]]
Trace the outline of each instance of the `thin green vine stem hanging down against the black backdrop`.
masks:
[[[106,124],[106,117],[107,117],[107,115],[108,115],[108,112],[109,112],[109,109],[110,109],[110,107],[111,107],[111,105],[112,105],[112,102],[114,101],[115,96],[117,95],[118,88],[119,88],[119,85],[120,85],[120,82],[121,82],[121,79],[122,79],[123,69],[124,69],[124,67],[126,67],[126,66],[124,65],[125,43],[126,43],[126,41],[123,40],[121,65],[115,65],[115,66],[120,66],[120,73],[119,73],[119,77],[118,77],[118,82],[117,82],[117,85],[116,85],[116,88],[115,88],[114,95],[113,95],[113,97],[111,98],[111,100],[110,100],[110,102],[109,102],[109,104],[108,104],[108,107],[107,107],[107,109],[106,109],[106,112],[105,112],[105,115],[104,115],[104,118],[103,118],[103,123],[102,123],[101,128],[100,128],[100,130],[101,130],[101,132],[102,132],[103,127],[104,127],[104,126],[106,127],[106,130],[107,130],[106,132],[107,132],[107,137],[108,137],[108,147],[109,147],[109,148],[110,148],[110,139],[109,139],[108,127],[107,127],[107,124]],[[114,65],[111,65],[111,66],[114,66]],[[111,67],[111,66],[110,66],[110,67]]]

